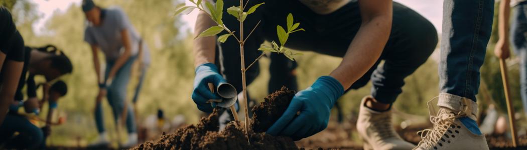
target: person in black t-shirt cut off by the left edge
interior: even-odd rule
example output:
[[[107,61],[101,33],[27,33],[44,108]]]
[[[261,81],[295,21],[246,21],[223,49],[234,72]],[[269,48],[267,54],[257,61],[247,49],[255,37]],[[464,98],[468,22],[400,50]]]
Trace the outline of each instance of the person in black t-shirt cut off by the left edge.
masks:
[[[24,39],[9,10],[0,5],[0,124],[15,97],[17,79],[24,66]]]

